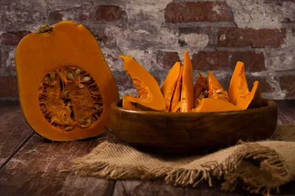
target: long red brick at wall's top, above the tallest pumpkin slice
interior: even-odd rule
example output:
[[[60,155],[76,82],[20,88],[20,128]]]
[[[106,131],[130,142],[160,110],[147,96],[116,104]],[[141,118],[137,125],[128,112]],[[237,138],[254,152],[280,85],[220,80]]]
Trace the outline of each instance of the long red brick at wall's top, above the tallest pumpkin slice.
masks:
[[[233,21],[234,16],[226,2],[171,2],[165,8],[165,22]]]

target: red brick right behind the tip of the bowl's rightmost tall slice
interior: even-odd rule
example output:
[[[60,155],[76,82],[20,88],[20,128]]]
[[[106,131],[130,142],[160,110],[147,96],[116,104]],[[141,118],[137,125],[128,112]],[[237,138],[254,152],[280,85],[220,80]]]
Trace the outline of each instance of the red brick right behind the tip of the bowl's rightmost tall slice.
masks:
[[[241,61],[245,64],[246,72],[266,71],[265,56],[263,52],[236,51],[233,52],[232,69],[235,70],[236,62]]]

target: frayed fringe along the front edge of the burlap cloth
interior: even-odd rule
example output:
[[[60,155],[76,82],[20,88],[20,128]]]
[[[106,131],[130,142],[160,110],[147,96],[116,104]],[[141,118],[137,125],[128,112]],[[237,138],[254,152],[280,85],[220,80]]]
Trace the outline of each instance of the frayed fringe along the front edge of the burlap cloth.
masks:
[[[85,157],[73,160],[73,166],[61,172],[75,172],[81,176],[99,176],[106,179],[140,178],[154,180],[164,178],[165,182],[174,186],[197,186],[202,180],[212,185],[212,178],[224,179],[222,190],[234,191],[236,185],[242,182],[250,193],[269,195],[272,189],[278,191],[279,186],[289,180],[289,172],[285,162],[275,150],[257,143],[239,141],[237,149],[225,161],[202,164],[200,169],[184,169],[181,167],[159,167],[149,169],[146,166],[132,164],[114,164],[100,161],[100,154],[112,144],[129,144],[121,141],[113,134],[100,138],[100,144]],[[112,157],[110,157],[112,158]],[[256,165],[251,163],[256,161]],[[253,175],[263,172],[262,175]]]

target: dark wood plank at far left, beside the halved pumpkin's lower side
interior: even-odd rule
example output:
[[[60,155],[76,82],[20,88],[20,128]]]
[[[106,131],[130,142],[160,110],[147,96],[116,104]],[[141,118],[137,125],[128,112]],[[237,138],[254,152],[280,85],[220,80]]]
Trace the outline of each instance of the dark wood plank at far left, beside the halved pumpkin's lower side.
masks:
[[[19,102],[0,101],[0,167],[31,133]]]

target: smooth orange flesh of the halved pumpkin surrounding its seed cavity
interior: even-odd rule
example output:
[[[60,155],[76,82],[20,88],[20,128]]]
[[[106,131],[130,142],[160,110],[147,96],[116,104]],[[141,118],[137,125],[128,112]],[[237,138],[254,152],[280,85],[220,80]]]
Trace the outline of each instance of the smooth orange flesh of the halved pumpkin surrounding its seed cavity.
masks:
[[[99,135],[109,126],[110,104],[119,98],[113,74],[96,39],[85,26],[62,21],[51,28],[48,32],[32,32],[25,36],[16,49],[15,66],[24,118],[38,135],[52,141],[75,141]],[[38,89],[46,74],[70,67],[89,73],[99,88],[103,111],[89,127],[73,125],[71,130],[65,131],[44,117]]]

